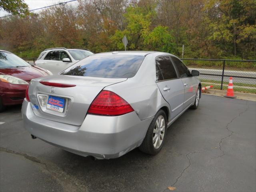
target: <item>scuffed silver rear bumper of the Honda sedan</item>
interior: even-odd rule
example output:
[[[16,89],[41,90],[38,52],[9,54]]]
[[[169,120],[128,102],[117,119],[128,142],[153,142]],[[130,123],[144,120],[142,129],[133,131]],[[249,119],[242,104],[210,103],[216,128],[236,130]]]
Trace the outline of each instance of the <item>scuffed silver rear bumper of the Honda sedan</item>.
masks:
[[[26,99],[22,105],[24,126],[30,134],[75,154],[117,158],[140,146],[152,118],[140,120],[135,112],[122,116],[86,115],[74,126],[34,114]]]

